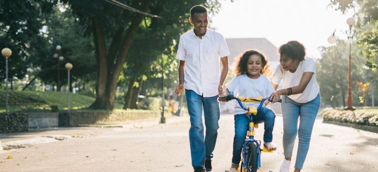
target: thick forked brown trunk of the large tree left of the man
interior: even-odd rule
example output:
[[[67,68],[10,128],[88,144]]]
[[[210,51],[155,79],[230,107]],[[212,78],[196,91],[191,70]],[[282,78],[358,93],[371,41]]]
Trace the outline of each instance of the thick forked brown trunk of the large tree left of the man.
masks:
[[[151,1],[144,1],[140,6],[141,11],[147,11],[151,5]],[[93,26],[95,29],[94,39],[96,48],[96,62],[98,65],[97,76],[97,89],[96,100],[90,106],[93,109],[113,109],[115,91],[118,84],[118,78],[123,68],[123,64],[126,61],[127,53],[132,44],[132,38],[135,31],[139,28],[140,22],[143,19],[143,15],[137,14],[133,18],[132,24],[127,30],[126,35],[122,39],[122,44],[118,50],[119,53],[109,52],[108,57],[106,54],[106,44],[103,29],[96,17],[93,18]],[[121,31],[116,31],[115,34],[122,34]],[[115,35],[114,38],[118,39],[120,35]],[[114,39],[113,38],[113,39]],[[112,44],[116,44],[118,41],[113,40]],[[110,49],[116,49],[115,45],[110,45]],[[116,57],[116,58],[114,58]],[[112,60],[114,59],[114,60]],[[108,61],[110,60],[110,61]]]

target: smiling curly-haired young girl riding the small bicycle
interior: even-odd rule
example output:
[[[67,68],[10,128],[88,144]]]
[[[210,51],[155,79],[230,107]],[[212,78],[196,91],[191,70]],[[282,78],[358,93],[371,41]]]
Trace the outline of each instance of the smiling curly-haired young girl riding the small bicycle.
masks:
[[[245,97],[268,97],[274,91],[270,80],[262,74],[266,73],[269,67],[268,58],[258,50],[252,49],[245,51],[237,59],[235,74],[237,75],[232,81],[226,84],[226,90],[234,91],[234,94]],[[245,106],[258,106],[259,103],[245,103]],[[232,165],[229,172],[237,172],[239,167],[243,143],[249,128],[249,118],[237,102],[235,102],[235,136],[232,156]],[[275,114],[272,110],[262,107],[253,121],[257,123],[264,122],[264,146],[269,150],[275,150],[276,144],[272,143],[272,131]]]

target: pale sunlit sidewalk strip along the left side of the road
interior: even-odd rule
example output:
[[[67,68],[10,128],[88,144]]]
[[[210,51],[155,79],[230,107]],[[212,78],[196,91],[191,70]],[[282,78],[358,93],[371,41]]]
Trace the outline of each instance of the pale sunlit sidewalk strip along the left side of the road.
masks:
[[[189,121],[189,116],[172,116],[166,118],[166,123]],[[0,154],[12,149],[31,147],[40,143],[64,141],[72,138],[89,138],[106,134],[114,128],[131,130],[160,125],[160,118],[127,121],[119,124],[93,124],[82,127],[49,127],[29,128],[27,132],[0,134]]]

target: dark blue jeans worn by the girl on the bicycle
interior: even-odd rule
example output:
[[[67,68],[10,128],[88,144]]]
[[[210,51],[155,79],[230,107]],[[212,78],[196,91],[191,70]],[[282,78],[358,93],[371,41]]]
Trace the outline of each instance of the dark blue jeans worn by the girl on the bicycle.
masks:
[[[262,107],[256,115],[253,115],[253,122],[262,123],[264,122],[264,142],[271,142],[273,139],[272,131],[274,126],[274,112],[269,109]],[[232,151],[232,164],[239,164],[241,159],[241,153],[243,149],[243,144],[245,141],[245,136],[249,130],[249,118],[246,114],[234,115],[235,120],[235,136],[234,136],[234,148]]]

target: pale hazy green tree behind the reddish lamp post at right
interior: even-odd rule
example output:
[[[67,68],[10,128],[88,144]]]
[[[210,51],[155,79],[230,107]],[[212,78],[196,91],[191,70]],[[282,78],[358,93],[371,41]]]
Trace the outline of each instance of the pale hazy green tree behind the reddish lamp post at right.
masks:
[[[358,53],[356,45],[352,44],[352,102],[358,105],[358,96],[362,95],[361,90],[355,85],[356,82],[365,83],[368,81],[368,73],[362,68],[364,57]],[[317,81],[322,94],[322,104],[332,107],[346,106],[348,91],[348,56],[349,43],[338,40],[336,46],[322,47],[322,58],[317,64]]]

